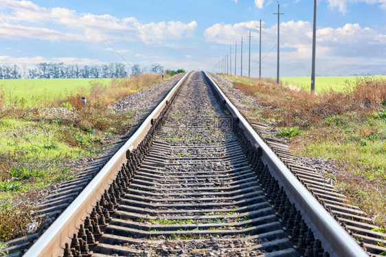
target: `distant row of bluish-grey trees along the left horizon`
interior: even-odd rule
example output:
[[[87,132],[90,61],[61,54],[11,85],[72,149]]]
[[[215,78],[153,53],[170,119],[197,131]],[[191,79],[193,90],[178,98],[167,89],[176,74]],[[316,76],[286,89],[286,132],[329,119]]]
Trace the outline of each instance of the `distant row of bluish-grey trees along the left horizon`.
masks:
[[[131,73],[129,72],[131,71]],[[181,72],[183,69],[178,69]],[[123,78],[139,76],[147,72],[161,74],[163,66],[155,63],[141,68],[138,64],[127,67],[123,63],[109,65],[65,65],[65,63],[38,63],[27,69],[24,65],[0,66],[0,79],[16,78]],[[166,70],[168,72],[169,70]],[[182,72],[185,72],[183,70]]]

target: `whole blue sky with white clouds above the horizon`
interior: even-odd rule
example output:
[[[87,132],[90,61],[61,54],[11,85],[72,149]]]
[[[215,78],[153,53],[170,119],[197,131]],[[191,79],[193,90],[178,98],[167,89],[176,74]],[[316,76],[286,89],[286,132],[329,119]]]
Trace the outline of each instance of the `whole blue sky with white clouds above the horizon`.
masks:
[[[64,62],[213,71],[231,55],[234,74],[276,76],[277,1],[0,0],[0,65]],[[309,76],[312,0],[280,1],[280,75]],[[117,54],[112,47],[120,53]],[[228,56],[228,58],[229,58]],[[386,0],[319,0],[317,75],[386,74]]]

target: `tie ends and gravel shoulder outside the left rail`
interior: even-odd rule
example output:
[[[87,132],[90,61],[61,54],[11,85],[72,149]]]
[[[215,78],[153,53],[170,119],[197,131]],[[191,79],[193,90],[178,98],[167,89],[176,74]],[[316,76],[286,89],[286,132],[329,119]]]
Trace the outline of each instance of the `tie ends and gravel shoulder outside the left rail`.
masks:
[[[124,143],[137,131],[139,126],[144,122],[144,120],[150,115],[150,113],[157,107],[159,102],[163,100],[169,93],[170,89],[178,82],[181,76],[172,78],[171,80],[164,82],[164,85],[159,85],[158,87],[152,87],[150,91],[157,90],[157,93],[150,93],[152,96],[152,103],[146,105],[137,111],[135,111],[135,119],[137,120],[136,124],[125,134],[102,150],[102,154],[98,155],[95,159],[87,162],[87,165],[82,168],[80,172],[76,172],[76,179],[71,179],[63,183],[59,183],[55,188],[47,194],[46,197],[41,199],[34,212],[33,216],[36,220],[44,220],[43,232],[44,230],[54,222],[56,218],[72,203],[72,201],[78,196],[80,192],[84,189],[85,186],[95,177],[96,174],[101,170],[101,168],[106,164],[109,159],[119,150]],[[148,90],[148,89],[145,89]],[[142,92],[140,93],[139,98],[143,102],[143,98],[148,97],[149,94]],[[136,99],[138,100],[138,99]],[[119,102],[118,102],[119,103]],[[115,103],[117,105],[118,103]],[[130,104],[130,110],[133,110],[132,102]],[[120,107],[115,108],[117,111],[125,111],[125,104],[120,104]],[[77,167],[78,168],[78,167]],[[36,241],[39,236],[41,236],[42,231],[38,231],[21,238],[16,238],[10,241],[5,242],[7,247],[3,252],[8,253],[10,256],[21,256],[23,253],[32,246],[34,241]],[[1,255],[1,254],[0,254]]]

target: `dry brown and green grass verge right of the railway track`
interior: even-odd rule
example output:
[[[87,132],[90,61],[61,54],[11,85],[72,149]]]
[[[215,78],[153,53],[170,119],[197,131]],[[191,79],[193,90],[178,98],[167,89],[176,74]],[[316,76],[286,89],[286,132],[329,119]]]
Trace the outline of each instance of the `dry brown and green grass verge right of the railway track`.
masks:
[[[341,91],[311,94],[267,79],[229,79],[258,100],[249,118],[277,124],[297,155],[337,160],[337,187],[385,227],[386,80],[361,77]]]

